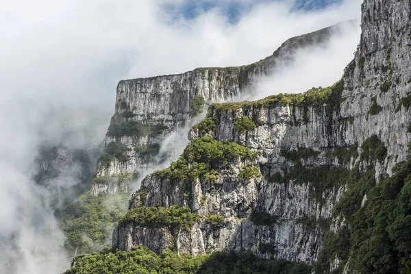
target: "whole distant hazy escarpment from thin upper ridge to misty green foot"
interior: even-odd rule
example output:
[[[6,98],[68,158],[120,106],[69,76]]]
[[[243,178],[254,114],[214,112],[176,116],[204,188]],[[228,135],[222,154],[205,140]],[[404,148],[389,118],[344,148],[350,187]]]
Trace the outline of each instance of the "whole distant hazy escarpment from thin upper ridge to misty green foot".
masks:
[[[127,210],[131,186],[178,158],[188,143],[190,127],[201,121],[210,103],[253,92],[258,77],[281,71],[297,61],[295,53],[300,49],[325,46],[333,35],[355,24],[341,23],[291,38],[270,57],[248,66],[203,68],[119,82],[116,113],[91,189],[64,210],[60,221],[69,253],[110,247],[112,226]]]

